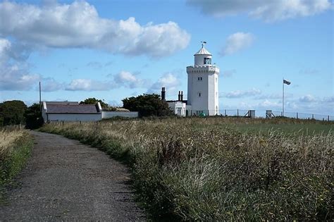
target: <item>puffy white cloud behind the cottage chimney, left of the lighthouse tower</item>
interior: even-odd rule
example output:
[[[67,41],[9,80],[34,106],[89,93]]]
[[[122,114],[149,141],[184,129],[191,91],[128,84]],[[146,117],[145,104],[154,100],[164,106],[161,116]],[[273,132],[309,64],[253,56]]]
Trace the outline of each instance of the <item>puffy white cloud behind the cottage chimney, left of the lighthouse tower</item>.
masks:
[[[172,73],[167,73],[166,75],[161,76],[159,80],[154,82],[154,84],[149,88],[148,92],[160,92],[161,87],[166,87],[166,90],[173,92],[179,86],[180,80]]]

